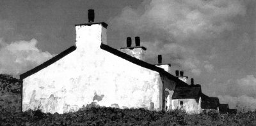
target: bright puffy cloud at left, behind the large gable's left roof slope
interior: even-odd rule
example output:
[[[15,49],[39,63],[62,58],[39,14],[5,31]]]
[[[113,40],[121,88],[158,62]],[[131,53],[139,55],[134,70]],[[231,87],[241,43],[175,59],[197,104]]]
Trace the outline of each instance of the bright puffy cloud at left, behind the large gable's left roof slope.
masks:
[[[36,47],[38,41],[15,41],[10,44],[0,40],[0,73],[19,75],[38,64],[51,59],[53,55]]]

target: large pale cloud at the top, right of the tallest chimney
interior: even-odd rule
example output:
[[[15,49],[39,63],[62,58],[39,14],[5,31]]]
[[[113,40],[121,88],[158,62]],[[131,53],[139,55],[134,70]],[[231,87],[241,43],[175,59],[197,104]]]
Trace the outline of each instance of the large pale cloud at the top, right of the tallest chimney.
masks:
[[[168,39],[212,38],[214,34],[234,29],[230,18],[244,15],[246,8],[239,0],[152,0],[142,4],[144,9],[124,8],[111,20],[120,27],[132,27],[134,32],[166,32]]]

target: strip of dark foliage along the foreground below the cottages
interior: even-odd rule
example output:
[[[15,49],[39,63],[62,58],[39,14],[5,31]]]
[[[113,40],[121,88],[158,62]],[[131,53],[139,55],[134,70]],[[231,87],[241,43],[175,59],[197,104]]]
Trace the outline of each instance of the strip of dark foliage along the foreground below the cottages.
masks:
[[[145,109],[89,108],[76,113],[45,114],[40,110],[0,112],[0,125],[256,125],[256,113],[186,115]]]

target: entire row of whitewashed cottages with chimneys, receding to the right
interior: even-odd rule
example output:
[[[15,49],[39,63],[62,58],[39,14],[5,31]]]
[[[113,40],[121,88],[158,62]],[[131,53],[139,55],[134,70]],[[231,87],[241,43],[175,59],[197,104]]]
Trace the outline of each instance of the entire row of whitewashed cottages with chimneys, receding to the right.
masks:
[[[107,43],[108,25],[93,22],[93,10],[88,18],[88,24],[76,25],[74,46],[20,74],[22,111],[68,113],[92,102],[155,111],[181,108],[188,113],[216,109],[202,104],[209,99],[203,99],[200,85],[186,83],[182,71],[180,76],[170,74],[170,64],[162,64],[161,55],[159,64],[144,62],[147,48],[139,37],[135,46],[127,38],[127,47],[116,50]]]

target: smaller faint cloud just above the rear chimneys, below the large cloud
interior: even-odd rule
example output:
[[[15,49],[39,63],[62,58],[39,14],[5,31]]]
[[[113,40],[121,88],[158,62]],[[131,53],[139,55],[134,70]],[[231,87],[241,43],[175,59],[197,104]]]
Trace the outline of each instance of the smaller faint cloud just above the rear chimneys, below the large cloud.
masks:
[[[165,61],[171,62],[172,66],[182,67],[184,71],[191,71],[196,76],[199,76],[202,72],[200,66],[204,66],[204,62],[200,62],[196,58],[195,50],[193,49],[186,48],[177,43],[163,44],[161,41],[155,41],[154,43],[143,42],[141,44],[147,48],[145,55],[147,55],[148,59],[154,60],[157,54],[161,54]]]

